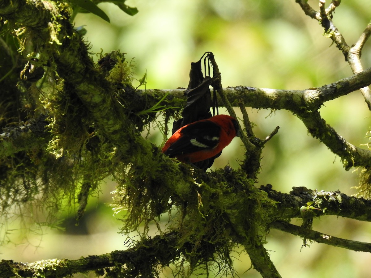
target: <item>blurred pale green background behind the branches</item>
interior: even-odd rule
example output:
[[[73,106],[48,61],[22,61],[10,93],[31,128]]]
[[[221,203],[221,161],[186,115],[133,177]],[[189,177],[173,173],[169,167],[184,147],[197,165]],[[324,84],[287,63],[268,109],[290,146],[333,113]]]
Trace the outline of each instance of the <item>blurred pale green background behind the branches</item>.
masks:
[[[318,1],[308,2],[318,9]],[[128,0],[125,3],[137,7],[139,13],[131,17],[114,4],[99,4],[111,24],[92,14],[78,14],[75,26],[85,26],[88,31],[85,39],[91,44],[92,53],[119,49],[127,53],[128,59],[135,57],[137,77],[148,73],[147,88],[187,87],[190,63],[206,51],[214,53],[224,87],[306,89],[352,75],[342,53],[322,36],[318,22],[305,16],[294,0]],[[334,22],[351,45],[370,17],[370,0],[342,1]],[[370,43],[362,52],[362,63],[364,68],[370,67]],[[263,149],[257,186],[271,183],[273,189],[287,193],[293,186],[340,190],[347,195],[356,193],[352,187],[358,185],[357,171],[345,171],[341,160],[309,136],[305,126],[290,112],[250,108],[247,112],[256,123],[254,132],[259,138],[265,138],[280,126],[278,134]],[[321,114],[350,143],[356,146],[368,143],[365,135],[371,126],[370,111],[360,92],[325,103]],[[149,139],[158,145],[164,140],[155,127]],[[243,155],[240,145],[240,140],[234,139],[213,168],[227,164],[237,167]],[[111,181],[102,184],[99,198],[90,199],[79,226],[75,226],[75,215],[63,215],[65,220],[60,225],[65,231],[27,229],[24,234],[19,229],[19,219],[10,221],[9,229],[16,229],[9,235],[13,243],[1,248],[0,258],[22,262],[77,259],[123,249],[126,236],[117,233],[121,222],[105,205],[111,201],[114,186]],[[42,220],[44,216],[36,217]],[[292,223],[300,224],[295,219]],[[314,220],[313,229],[371,242],[371,224],[367,222],[324,216]],[[282,277],[371,277],[371,254],[317,243],[301,249],[300,238],[276,230],[270,231],[267,241],[265,247]],[[255,270],[245,272],[250,267],[247,255],[236,252],[235,257],[234,266],[240,277],[260,277]],[[170,268],[165,269],[164,277],[172,276]]]

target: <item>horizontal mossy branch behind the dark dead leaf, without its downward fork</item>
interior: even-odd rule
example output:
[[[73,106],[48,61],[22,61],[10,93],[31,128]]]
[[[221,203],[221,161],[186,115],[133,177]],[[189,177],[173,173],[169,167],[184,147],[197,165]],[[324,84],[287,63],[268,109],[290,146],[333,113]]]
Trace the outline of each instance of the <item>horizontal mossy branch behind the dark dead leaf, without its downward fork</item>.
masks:
[[[340,79],[334,83],[324,85],[319,88],[305,90],[278,90],[263,89],[246,86],[236,86],[223,88],[223,93],[232,106],[237,107],[241,100],[246,106],[252,108],[285,109],[293,113],[301,113],[303,110],[318,110],[325,102],[347,95],[355,90],[371,84],[371,68],[363,70],[355,75]],[[183,105],[179,103],[185,89],[158,90],[146,89],[138,90],[145,97],[157,95],[159,98],[168,94],[168,104],[171,106]],[[172,102],[172,100],[176,102]],[[218,103],[223,103],[218,99]],[[155,104],[155,103],[153,103]],[[150,104],[148,104],[149,106]]]

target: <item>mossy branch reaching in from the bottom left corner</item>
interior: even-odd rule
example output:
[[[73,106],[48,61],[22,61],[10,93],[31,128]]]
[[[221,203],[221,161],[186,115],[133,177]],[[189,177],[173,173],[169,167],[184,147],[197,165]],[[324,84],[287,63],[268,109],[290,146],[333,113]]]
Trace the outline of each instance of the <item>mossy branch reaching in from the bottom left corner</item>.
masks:
[[[0,262],[0,277],[45,277],[63,278],[86,271],[107,272],[112,268],[123,269],[125,277],[152,277],[154,269],[165,267],[180,255],[176,234],[158,235],[124,251],[113,251],[81,259],[49,259],[33,263]],[[121,268],[122,266],[122,268]]]

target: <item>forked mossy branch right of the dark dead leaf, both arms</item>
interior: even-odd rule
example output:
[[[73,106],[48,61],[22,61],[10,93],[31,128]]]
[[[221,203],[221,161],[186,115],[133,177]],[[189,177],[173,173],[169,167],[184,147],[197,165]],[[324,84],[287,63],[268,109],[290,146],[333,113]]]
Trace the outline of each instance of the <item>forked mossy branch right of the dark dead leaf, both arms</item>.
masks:
[[[347,95],[371,84],[371,68],[351,77],[341,79],[320,88],[306,90],[274,90],[253,87],[227,87],[223,89],[232,106],[244,105],[253,108],[285,109],[302,120],[309,133],[323,142],[334,154],[344,160],[344,167],[370,167],[370,150],[361,149],[342,138],[326,124],[318,109],[327,101]],[[155,90],[156,93],[162,93]],[[168,91],[166,91],[168,92]],[[174,90],[179,94],[181,90]],[[151,94],[151,90],[147,90]],[[173,105],[173,103],[171,103]]]

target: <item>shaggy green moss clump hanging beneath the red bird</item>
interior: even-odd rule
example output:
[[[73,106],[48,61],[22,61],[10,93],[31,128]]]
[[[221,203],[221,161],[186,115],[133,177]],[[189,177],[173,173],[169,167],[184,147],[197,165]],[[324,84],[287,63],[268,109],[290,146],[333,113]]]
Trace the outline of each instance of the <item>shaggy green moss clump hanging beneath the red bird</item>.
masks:
[[[255,188],[242,170],[207,174],[168,160],[169,164],[162,164],[168,167],[164,172],[154,167],[153,172],[141,174],[137,162],[128,169],[115,192],[121,199],[113,204],[115,209],[128,209],[122,232],[137,230],[144,222],[145,238],[149,223],[168,213],[167,230],[176,232],[182,250],[174,262],[181,277],[209,269],[216,261],[223,271],[233,271],[230,253],[234,246],[265,243],[276,202]],[[178,170],[190,178],[180,179]]]

